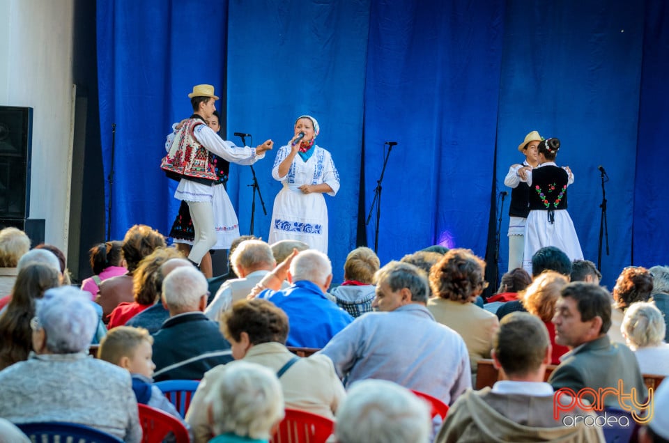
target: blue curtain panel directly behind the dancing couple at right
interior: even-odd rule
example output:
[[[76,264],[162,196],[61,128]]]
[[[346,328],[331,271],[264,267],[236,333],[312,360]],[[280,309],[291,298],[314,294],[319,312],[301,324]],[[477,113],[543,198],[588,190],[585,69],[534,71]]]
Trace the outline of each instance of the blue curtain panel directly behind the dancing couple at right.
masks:
[[[518,144],[538,130],[557,137],[556,162],[570,166],[569,215],[586,259],[597,263],[602,165],[610,256],[603,283],[612,287],[630,263],[643,6],[623,1],[507,1],[497,189],[524,157]],[[502,223],[500,269],[508,266],[508,205]],[[606,249],[606,248],[605,248]]]

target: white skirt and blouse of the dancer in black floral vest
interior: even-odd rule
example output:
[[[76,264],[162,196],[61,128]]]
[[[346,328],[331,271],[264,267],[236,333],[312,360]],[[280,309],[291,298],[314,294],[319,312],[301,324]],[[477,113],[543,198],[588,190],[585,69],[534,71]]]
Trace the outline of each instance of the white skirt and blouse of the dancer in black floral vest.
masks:
[[[537,166],[557,166],[554,162],[547,162]],[[535,171],[535,168],[533,171]],[[528,185],[530,193],[533,192],[532,171],[528,171]],[[574,182],[574,176],[569,173],[567,185]],[[535,184],[536,185],[536,184]],[[565,191],[566,193],[566,191]],[[527,224],[525,224],[525,254],[523,254],[523,268],[532,275],[532,256],[539,249],[546,246],[554,246],[567,254],[569,260],[583,260],[583,251],[580,249],[580,242],[576,235],[574,222],[569,217],[566,209],[554,210],[554,221],[548,220],[547,211],[530,210]]]

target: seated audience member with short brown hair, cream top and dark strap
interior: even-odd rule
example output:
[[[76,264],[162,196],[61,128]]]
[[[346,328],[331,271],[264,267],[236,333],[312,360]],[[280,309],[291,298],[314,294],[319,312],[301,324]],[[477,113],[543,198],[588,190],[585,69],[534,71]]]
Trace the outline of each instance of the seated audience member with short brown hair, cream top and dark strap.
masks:
[[[186,416],[196,443],[207,442],[211,435],[206,410],[201,406],[203,399],[216,380],[240,359],[266,366],[277,374],[286,407],[334,419],[346,395],[344,386],[325,355],[300,358],[286,348],[289,326],[284,311],[267,300],[240,300],[223,314],[221,329],[236,361],[208,371],[197,388]]]

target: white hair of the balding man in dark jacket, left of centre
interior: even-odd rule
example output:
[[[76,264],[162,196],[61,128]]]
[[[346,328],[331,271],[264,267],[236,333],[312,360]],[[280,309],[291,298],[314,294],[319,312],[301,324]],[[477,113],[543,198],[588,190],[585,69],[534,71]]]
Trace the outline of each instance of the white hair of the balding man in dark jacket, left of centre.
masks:
[[[162,281],[162,300],[175,311],[197,311],[199,300],[207,294],[207,279],[194,267],[181,266]]]

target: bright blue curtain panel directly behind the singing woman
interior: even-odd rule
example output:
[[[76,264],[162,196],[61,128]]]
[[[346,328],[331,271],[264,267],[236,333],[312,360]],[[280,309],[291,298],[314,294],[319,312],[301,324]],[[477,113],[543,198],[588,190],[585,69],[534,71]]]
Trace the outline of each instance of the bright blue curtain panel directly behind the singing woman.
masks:
[[[355,247],[369,1],[233,0],[229,20],[229,137],[252,134],[254,146],[272,139],[276,151],[293,137],[295,118],[316,118],[321,127],[316,143],[330,150],[341,178],[337,196],[325,196],[328,256],[337,282],[346,254]],[[254,165],[267,208],[263,215],[256,197],[254,234],[264,240],[282,187],[271,176],[275,151]],[[249,233],[251,183],[248,166],[231,168],[228,189],[241,233]]]

